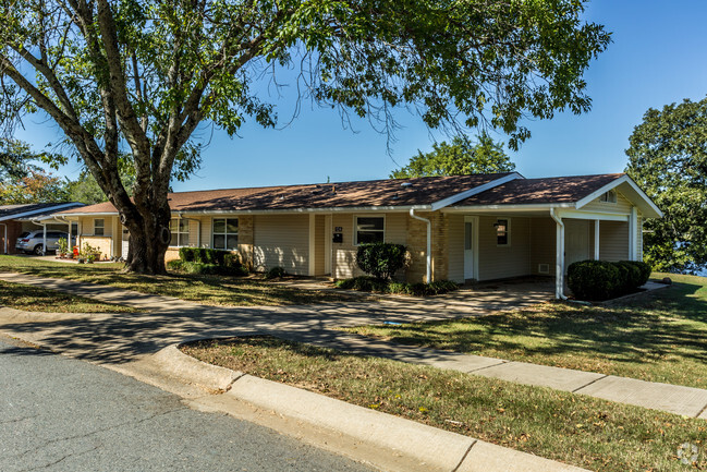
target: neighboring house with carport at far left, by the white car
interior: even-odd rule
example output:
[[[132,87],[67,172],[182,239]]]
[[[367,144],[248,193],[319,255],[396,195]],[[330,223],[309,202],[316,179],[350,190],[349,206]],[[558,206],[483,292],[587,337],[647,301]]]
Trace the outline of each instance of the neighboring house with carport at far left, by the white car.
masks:
[[[2,254],[16,254],[15,242],[23,232],[66,231],[68,221],[53,215],[81,206],[84,204],[76,202],[0,205],[0,251]]]

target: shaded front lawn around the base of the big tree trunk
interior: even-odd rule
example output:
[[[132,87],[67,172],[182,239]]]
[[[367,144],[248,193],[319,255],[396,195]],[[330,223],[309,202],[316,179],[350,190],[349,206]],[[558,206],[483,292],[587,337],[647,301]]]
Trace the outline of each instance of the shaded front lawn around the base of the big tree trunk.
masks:
[[[276,286],[258,277],[191,274],[141,276],[123,274],[122,269],[122,264],[66,264],[33,257],[0,256],[0,271],[100,283],[211,305],[292,305],[352,300],[352,295],[345,293]]]

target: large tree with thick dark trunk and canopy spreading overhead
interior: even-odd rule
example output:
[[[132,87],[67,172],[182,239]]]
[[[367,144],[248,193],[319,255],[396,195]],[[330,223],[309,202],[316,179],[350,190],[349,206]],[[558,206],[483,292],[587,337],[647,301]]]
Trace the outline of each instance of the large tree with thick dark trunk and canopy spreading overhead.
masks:
[[[131,233],[129,270],[161,273],[170,179],[199,165],[206,121],[272,126],[259,83],[298,73],[317,104],[391,129],[480,123],[529,136],[524,116],[589,108],[582,76],[610,40],[580,0],[12,0],[0,2],[0,118],[42,111]],[[132,155],[133,199],[119,176]]]

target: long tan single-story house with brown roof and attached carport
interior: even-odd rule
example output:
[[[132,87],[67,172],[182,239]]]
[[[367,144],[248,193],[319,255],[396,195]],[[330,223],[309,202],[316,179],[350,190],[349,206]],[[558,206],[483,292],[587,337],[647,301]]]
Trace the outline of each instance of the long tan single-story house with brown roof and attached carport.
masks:
[[[356,247],[405,244],[409,281],[556,276],[569,264],[643,257],[645,218],[660,209],[622,173],[525,179],[517,172],[178,192],[171,246],[237,251],[256,270],[341,279],[361,274]],[[81,244],[125,255],[110,203],[57,214]]]

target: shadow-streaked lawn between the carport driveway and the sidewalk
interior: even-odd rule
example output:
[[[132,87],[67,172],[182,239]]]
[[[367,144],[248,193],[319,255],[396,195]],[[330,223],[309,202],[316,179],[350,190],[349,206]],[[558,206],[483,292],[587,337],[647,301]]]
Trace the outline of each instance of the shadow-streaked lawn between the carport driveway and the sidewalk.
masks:
[[[707,388],[707,278],[614,306],[545,303],[495,315],[350,329],[394,342]]]

